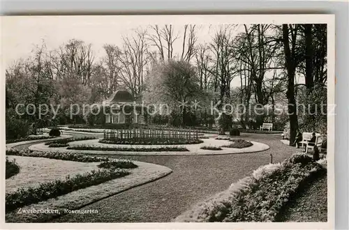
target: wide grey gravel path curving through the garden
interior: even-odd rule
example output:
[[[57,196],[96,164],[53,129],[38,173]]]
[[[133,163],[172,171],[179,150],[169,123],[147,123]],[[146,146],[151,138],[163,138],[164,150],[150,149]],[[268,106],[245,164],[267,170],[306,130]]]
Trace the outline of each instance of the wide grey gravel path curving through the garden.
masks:
[[[268,164],[270,154],[273,162],[281,162],[296,151],[281,143],[280,135],[246,134],[244,139],[270,148],[232,155],[109,156],[160,164],[172,169],[172,174],[83,208],[96,209],[98,214],[70,214],[54,222],[170,222],[199,201]]]

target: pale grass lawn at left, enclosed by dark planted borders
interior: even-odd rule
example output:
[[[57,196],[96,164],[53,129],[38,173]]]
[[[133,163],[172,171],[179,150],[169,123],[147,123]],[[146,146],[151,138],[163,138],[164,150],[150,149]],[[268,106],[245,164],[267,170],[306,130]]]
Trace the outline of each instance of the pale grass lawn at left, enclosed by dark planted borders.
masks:
[[[99,162],[73,162],[8,155],[8,160],[13,159],[20,165],[20,173],[6,180],[6,193],[15,192],[20,187],[64,179],[68,175],[82,174],[98,169],[97,164],[99,164]]]

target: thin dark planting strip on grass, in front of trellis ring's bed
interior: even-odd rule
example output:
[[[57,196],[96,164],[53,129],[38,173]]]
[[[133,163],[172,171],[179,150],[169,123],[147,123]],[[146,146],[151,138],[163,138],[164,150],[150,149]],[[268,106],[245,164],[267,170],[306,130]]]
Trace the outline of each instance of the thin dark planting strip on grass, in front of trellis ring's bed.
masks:
[[[70,146],[67,149],[82,150],[82,151],[121,151],[121,152],[184,152],[188,151],[187,148],[177,147],[177,146],[164,146],[164,147],[154,147],[154,148],[133,148],[133,147],[102,147],[102,146]]]

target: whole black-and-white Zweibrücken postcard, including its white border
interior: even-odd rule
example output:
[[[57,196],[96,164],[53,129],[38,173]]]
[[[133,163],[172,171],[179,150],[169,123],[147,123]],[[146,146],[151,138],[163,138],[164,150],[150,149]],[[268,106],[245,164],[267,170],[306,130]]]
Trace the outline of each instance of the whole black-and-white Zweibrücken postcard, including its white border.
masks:
[[[1,24],[6,224],[333,227],[333,15]]]

